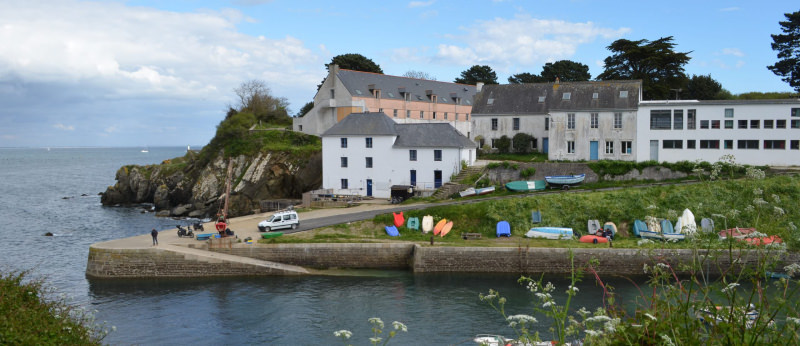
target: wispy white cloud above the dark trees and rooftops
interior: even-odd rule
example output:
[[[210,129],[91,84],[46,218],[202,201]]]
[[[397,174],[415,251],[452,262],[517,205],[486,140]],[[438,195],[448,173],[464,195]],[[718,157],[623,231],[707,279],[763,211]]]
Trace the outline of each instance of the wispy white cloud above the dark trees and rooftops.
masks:
[[[630,31],[628,28],[601,28],[592,22],[571,23],[528,16],[478,21],[462,30],[466,32],[463,36],[451,36],[461,44],[439,45],[437,58],[440,62],[489,64],[500,71],[517,65],[567,59],[582,44],[598,38],[619,38]]]

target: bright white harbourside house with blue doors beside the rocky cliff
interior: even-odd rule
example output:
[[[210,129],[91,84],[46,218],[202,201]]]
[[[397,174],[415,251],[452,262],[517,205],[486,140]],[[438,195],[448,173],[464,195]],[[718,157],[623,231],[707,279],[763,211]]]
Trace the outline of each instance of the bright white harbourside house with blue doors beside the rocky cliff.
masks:
[[[322,134],[322,188],[389,198],[392,185],[433,190],[472,165],[477,145],[447,123],[397,124],[353,113]]]

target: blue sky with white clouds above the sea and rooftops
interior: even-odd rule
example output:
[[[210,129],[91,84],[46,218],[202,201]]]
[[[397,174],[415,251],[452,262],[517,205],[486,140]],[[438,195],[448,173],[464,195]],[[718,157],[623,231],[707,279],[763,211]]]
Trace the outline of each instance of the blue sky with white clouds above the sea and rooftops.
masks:
[[[233,89],[261,80],[295,114],[325,65],[362,54],[384,73],[498,81],[547,62],[603,71],[617,39],[673,36],[687,75],[734,94],[792,91],[777,61],[793,1],[0,1],[0,147],[204,145]]]

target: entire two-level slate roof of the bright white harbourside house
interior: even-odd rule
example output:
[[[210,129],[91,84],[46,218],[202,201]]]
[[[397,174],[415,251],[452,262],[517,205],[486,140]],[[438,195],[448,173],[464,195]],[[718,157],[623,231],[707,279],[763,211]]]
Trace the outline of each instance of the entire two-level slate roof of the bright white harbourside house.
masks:
[[[325,136],[397,136],[399,148],[477,148],[475,142],[447,123],[397,124],[383,112],[351,113]]]

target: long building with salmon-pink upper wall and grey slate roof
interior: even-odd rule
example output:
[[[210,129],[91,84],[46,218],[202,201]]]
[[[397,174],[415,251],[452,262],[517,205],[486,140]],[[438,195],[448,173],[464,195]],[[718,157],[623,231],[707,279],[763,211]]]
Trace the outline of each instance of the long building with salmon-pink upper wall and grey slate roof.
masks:
[[[328,67],[314,107],[292,129],[319,136],[350,113],[383,112],[397,123],[447,123],[468,135],[474,85]]]

